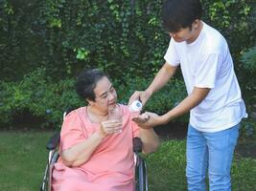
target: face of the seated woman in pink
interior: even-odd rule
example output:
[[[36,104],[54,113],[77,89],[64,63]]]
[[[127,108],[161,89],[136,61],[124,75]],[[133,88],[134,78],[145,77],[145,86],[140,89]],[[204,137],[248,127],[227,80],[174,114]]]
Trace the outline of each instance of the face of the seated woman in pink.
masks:
[[[108,109],[114,108],[117,101],[117,95],[112,83],[107,77],[100,79],[94,89],[95,101],[89,101],[90,104],[101,111],[107,113]]]

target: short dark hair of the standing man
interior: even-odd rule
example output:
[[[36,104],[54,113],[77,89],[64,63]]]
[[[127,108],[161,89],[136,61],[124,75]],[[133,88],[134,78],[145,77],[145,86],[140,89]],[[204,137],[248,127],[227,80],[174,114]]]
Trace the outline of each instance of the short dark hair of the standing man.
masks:
[[[178,32],[192,27],[202,14],[199,0],[167,0],[162,7],[162,22],[168,32]]]

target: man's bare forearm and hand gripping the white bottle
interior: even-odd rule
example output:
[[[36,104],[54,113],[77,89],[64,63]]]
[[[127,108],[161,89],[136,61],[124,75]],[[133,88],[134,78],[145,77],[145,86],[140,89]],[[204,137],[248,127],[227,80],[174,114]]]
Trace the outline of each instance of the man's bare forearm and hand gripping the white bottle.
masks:
[[[167,62],[163,65],[160,71],[153,78],[151,85],[146,91],[136,91],[132,96],[130,96],[128,105],[130,105],[134,100],[140,99],[142,104],[148,101],[151,95],[161,89],[168,80],[175,74],[177,67],[171,66]]]

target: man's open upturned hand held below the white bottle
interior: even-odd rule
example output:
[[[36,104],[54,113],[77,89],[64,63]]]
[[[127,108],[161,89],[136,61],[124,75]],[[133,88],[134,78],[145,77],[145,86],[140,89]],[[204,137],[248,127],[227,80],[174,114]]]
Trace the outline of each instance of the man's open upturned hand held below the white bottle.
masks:
[[[138,126],[148,129],[164,123],[163,117],[157,114],[146,112],[140,116],[133,117],[132,120],[137,123]]]

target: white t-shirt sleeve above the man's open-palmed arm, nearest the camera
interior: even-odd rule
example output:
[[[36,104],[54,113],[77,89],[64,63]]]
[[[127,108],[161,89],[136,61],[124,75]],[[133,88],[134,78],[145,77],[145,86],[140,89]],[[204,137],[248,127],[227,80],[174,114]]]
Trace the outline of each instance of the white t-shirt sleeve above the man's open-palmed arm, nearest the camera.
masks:
[[[214,88],[218,71],[222,62],[220,53],[209,53],[200,58],[195,73],[195,86],[198,88]]]

